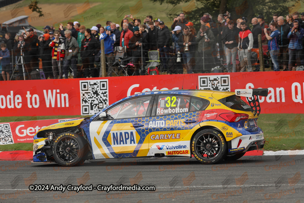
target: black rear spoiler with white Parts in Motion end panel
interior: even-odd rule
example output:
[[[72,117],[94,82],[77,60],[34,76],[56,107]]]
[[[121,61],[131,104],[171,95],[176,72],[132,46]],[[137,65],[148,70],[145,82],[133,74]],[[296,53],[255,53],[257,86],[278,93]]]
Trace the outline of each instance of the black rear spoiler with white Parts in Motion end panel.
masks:
[[[245,96],[251,107],[253,115],[259,116],[261,113],[260,101],[258,96],[267,96],[268,89],[236,89],[236,96]]]

